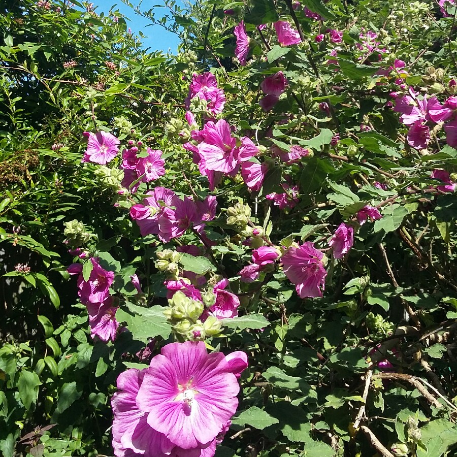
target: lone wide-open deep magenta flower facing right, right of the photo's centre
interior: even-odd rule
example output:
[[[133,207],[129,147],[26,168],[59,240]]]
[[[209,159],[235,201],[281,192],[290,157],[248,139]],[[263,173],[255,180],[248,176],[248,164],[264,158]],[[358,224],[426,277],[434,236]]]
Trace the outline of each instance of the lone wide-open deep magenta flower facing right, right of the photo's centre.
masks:
[[[296,284],[300,298],[322,297],[325,288],[325,271],[322,265],[322,252],[306,241],[299,247],[290,247],[282,256],[284,274]]]

